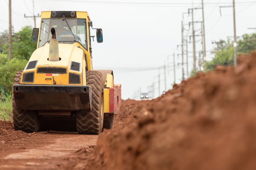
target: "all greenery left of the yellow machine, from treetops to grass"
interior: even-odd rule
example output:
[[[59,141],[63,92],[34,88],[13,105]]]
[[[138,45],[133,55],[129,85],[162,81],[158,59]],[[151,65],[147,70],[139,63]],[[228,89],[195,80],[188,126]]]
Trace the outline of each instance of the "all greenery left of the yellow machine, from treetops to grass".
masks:
[[[12,37],[12,59],[9,60],[8,31],[0,33],[0,120],[12,121],[11,91],[16,71],[23,70],[36,49],[31,42],[32,28],[25,26]]]

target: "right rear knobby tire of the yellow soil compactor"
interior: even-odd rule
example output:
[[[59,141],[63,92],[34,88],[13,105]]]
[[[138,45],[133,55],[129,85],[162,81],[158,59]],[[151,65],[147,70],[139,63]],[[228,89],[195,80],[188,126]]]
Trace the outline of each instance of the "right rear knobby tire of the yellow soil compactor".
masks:
[[[92,87],[92,111],[76,112],[76,128],[79,134],[99,134],[103,128],[104,103],[102,74],[99,71],[86,71],[86,83]]]

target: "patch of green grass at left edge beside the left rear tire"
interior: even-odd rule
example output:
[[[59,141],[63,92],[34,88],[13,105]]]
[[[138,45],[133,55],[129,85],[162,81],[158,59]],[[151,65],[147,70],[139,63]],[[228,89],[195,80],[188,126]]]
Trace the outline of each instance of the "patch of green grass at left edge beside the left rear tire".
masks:
[[[12,121],[11,99],[0,101],[0,120]]]

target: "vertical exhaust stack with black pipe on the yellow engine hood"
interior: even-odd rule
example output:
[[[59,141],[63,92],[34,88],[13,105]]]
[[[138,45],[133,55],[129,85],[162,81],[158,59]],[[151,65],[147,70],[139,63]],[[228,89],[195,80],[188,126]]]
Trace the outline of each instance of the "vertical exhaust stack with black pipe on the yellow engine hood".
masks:
[[[59,54],[58,54],[58,39],[56,39],[56,31],[54,28],[51,29],[52,39],[50,40],[49,45],[49,61],[56,62],[59,61]]]

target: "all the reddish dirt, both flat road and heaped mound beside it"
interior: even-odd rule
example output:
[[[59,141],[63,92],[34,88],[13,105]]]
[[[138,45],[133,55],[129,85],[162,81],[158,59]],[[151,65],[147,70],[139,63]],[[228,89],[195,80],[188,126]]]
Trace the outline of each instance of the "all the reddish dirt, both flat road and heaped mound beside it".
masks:
[[[256,169],[256,53],[236,67],[175,84],[153,100],[123,100],[100,135],[27,134],[0,121],[0,169]]]

